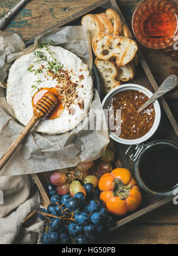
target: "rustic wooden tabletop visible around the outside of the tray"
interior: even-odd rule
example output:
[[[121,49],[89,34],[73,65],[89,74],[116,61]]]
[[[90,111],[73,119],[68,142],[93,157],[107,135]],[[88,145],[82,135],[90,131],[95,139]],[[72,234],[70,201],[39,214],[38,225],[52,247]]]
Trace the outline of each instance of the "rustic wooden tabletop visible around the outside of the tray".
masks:
[[[30,0],[11,20],[5,31],[15,32],[23,39],[32,37],[47,27],[94,4],[97,0]],[[178,4],[178,0],[174,0]],[[18,0],[0,0],[0,16],[5,14]],[[117,0],[128,24],[132,12],[140,0]],[[171,61],[161,50],[142,48],[142,53],[155,80],[160,84],[169,74],[171,66],[178,67],[178,61]],[[177,117],[178,108],[169,102]],[[178,203],[178,200],[177,200]],[[102,244],[178,244],[178,205],[169,203],[151,213],[122,226],[115,232],[96,242]]]

